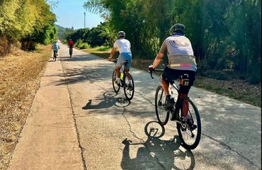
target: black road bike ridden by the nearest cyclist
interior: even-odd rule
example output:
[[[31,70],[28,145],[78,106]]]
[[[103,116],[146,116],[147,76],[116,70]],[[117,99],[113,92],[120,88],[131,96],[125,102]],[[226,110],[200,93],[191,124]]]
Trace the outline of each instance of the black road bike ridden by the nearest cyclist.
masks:
[[[164,69],[153,69],[149,71],[151,77],[152,72],[163,72]],[[187,77],[188,74],[184,74],[179,77],[178,82],[172,81],[169,84],[169,91],[171,91],[171,97],[174,99],[172,108],[167,108],[167,98],[162,86],[158,86],[155,94],[155,111],[156,118],[160,125],[166,125],[171,115],[171,120],[176,121],[176,128],[183,147],[186,149],[195,149],[198,147],[201,136],[201,120],[198,112],[198,108],[195,103],[190,100],[189,97],[180,98],[179,86],[181,82],[185,81],[183,77]],[[152,77],[154,79],[154,77]],[[186,79],[188,81],[188,79]],[[184,120],[181,115],[183,104],[188,103],[188,120]]]

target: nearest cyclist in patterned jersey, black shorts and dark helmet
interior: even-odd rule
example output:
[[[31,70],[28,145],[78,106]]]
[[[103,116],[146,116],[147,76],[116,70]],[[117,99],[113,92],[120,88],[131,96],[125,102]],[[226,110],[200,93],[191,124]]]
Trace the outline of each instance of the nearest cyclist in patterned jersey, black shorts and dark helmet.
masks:
[[[164,40],[158,55],[154,60],[153,65],[149,66],[149,71],[155,69],[161,58],[164,57],[164,53],[168,52],[169,65],[164,69],[161,75],[161,86],[167,97],[166,108],[172,109],[174,100],[169,93],[169,83],[183,74],[188,74],[189,84],[181,85],[179,91],[181,98],[186,98],[190,87],[193,86],[195,81],[195,72],[197,70],[197,64],[195,62],[195,56],[190,40],[184,35],[185,26],[181,23],[176,23],[169,30],[170,36]],[[183,103],[181,114],[183,119],[186,120],[188,115],[188,102]]]

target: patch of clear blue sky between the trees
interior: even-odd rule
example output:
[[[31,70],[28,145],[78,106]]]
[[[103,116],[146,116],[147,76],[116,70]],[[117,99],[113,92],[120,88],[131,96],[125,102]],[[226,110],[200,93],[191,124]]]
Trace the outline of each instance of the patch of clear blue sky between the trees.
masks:
[[[84,28],[84,12],[86,12],[86,28],[93,28],[103,22],[98,14],[89,13],[83,7],[86,0],[59,0],[54,13],[57,15],[57,24],[65,28]]]

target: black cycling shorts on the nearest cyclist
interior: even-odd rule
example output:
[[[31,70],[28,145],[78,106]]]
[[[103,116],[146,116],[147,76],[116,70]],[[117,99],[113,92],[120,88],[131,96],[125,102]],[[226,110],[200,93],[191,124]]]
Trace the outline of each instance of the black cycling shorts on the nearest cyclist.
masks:
[[[190,87],[193,86],[195,81],[195,72],[191,70],[181,70],[181,69],[170,69],[166,67],[162,74],[162,79],[167,83],[170,83],[176,79],[178,79],[183,74],[188,74],[189,84],[188,86],[179,86],[179,91],[182,94],[188,94]]]

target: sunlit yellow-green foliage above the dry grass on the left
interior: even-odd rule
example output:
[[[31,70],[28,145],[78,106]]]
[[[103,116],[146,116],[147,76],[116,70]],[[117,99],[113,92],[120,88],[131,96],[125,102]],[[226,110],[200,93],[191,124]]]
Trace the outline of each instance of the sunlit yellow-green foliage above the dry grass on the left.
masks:
[[[0,38],[21,41],[26,49],[55,39],[56,17],[45,0],[1,0],[0,8]]]

